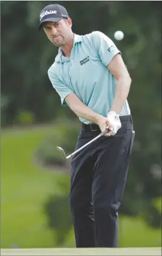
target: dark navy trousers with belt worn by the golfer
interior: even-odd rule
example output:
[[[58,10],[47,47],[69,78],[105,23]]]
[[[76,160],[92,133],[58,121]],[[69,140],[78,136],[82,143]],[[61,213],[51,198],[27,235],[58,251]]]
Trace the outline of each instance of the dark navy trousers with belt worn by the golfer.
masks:
[[[131,116],[122,116],[114,136],[102,136],[71,161],[70,206],[77,248],[118,247],[118,208],[128,174],[134,132]],[[99,135],[83,124],[76,149]]]

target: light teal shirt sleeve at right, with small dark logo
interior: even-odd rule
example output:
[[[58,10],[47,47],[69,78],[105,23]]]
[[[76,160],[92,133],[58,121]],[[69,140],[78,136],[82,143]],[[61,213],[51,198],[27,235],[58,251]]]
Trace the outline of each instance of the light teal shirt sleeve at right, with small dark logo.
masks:
[[[121,52],[112,40],[102,32],[92,32],[92,44],[97,49],[103,65],[108,66],[111,59]]]

